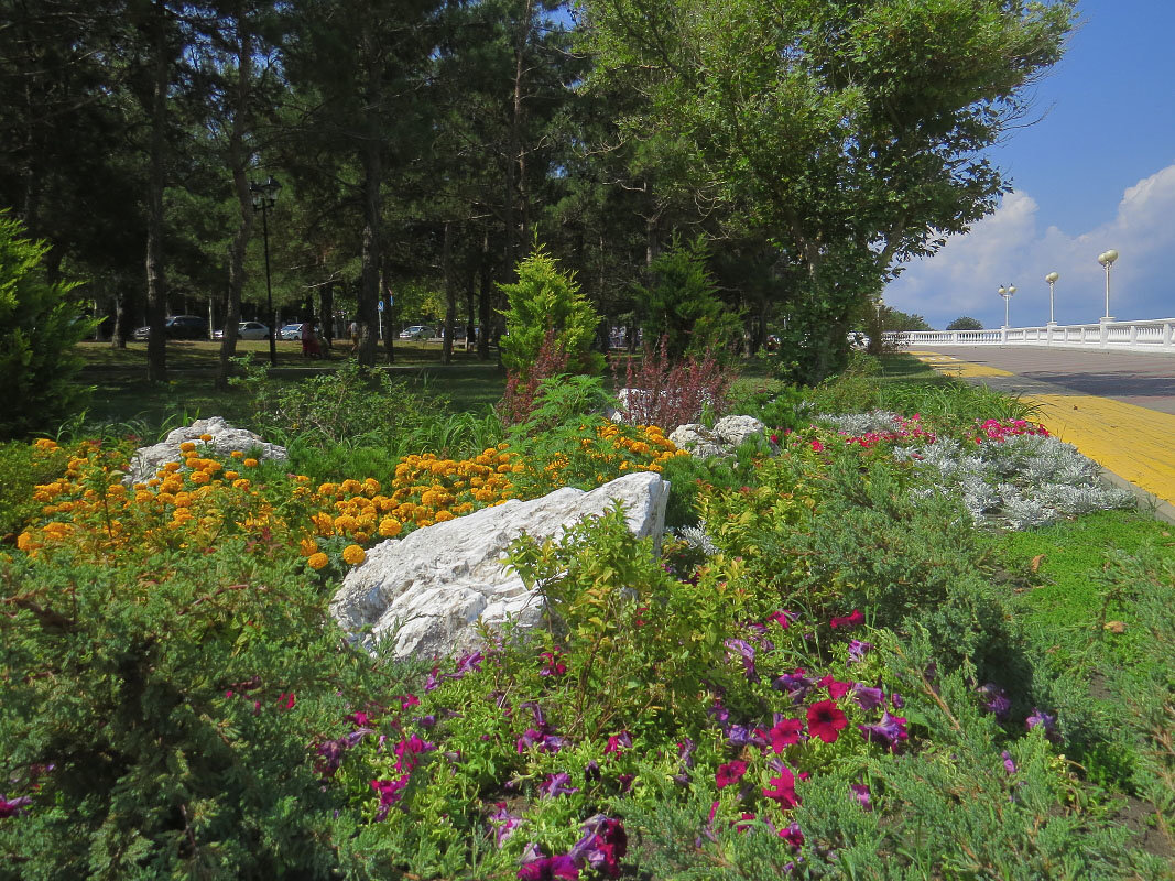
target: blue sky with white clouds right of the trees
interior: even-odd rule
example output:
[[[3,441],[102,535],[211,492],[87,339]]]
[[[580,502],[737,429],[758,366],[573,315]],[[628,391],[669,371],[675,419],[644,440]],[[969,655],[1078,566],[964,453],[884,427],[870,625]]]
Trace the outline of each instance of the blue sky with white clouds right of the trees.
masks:
[[[1032,87],[1033,112],[989,159],[1013,190],[999,209],[908,263],[885,302],[942,329],[967,315],[1003,324],[998,290],[1014,284],[1012,327],[1106,314],[1175,316],[1175,0],[1079,0],[1065,58]]]

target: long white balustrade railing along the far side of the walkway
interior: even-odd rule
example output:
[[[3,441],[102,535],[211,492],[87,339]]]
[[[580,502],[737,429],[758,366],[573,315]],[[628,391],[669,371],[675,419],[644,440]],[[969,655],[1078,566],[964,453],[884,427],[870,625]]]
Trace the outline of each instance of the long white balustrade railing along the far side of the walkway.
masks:
[[[1175,355],[1175,318],[1046,324],[999,330],[901,330],[885,335],[897,345],[1029,345],[1056,349],[1114,349]]]

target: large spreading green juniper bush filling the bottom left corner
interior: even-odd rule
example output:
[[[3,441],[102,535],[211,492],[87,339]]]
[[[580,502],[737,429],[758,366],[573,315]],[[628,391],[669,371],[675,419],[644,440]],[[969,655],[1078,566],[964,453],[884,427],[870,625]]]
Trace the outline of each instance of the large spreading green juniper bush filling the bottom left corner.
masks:
[[[337,802],[307,745],[361,666],[263,543],[0,567],[0,825],[26,879],[327,877]]]

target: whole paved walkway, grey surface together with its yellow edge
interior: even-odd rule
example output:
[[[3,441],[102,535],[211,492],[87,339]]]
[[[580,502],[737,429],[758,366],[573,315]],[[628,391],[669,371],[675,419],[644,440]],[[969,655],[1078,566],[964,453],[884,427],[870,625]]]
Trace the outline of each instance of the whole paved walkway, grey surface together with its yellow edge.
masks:
[[[1056,437],[1155,497],[1175,522],[1175,358],[1123,352],[935,347],[935,370],[1020,395]]]

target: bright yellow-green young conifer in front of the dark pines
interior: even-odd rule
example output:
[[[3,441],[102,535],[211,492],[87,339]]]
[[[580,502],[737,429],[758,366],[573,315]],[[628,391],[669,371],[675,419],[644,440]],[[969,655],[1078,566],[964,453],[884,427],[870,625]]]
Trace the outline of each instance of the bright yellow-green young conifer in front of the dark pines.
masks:
[[[503,312],[506,336],[502,337],[502,363],[525,375],[538,358],[548,330],[555,344],[570,356],[569,368],[579,374],[598,374],[603,357],[591,351],[599,315],[579,292],[572,273],[559,269],[543,246],[518,264],[518,281],[499,284],[509,300]]]

